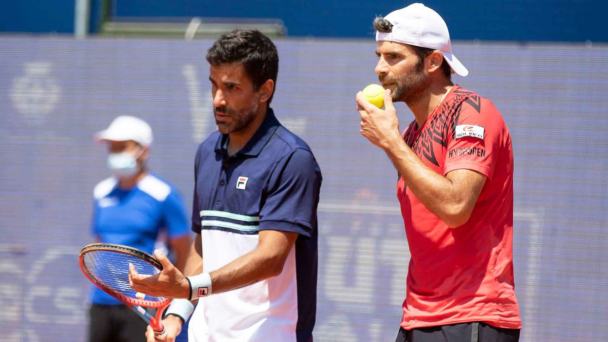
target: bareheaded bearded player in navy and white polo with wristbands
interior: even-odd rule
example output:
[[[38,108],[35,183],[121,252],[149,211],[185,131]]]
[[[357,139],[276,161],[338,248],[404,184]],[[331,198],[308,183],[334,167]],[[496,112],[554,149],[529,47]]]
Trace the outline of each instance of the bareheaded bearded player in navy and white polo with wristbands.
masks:
[[[197,234],[184,275],[157,251],[164,270],[131,268],[131,287],[178,298],[163,321],[167,341],[190,315],[191,342],[312,341],[322,176],[308,145],[269,106],[276,47],[257,30],[235,30],[207,61],[218,131],[196,152]],[[147,338],[155,341],[150,327]]]

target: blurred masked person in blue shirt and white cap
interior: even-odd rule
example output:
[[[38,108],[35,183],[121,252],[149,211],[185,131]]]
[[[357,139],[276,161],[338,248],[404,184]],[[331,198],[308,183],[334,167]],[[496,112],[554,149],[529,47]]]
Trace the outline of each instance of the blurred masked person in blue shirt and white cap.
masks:
[[[150,125],[137,117],[119,116],[95,139],[106,143],[112,173],[93,192],[95,240],[153,253],[161,235],[168,238],[175,265],[182,269],[190,249],[190,227],[178,191],[148,170]],[[91,303],[90,342],[145,341],[147,324],[122,302],[94,287]]]

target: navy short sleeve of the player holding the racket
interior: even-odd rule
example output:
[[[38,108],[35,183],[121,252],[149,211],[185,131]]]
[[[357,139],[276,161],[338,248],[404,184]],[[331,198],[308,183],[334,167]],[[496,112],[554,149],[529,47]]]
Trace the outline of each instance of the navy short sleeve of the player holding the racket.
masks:
[[[297,148],[285,156],[271,173],[268,196],[260,211],[260,230],[311,237],[321,182],[319,164],[311,152]]]

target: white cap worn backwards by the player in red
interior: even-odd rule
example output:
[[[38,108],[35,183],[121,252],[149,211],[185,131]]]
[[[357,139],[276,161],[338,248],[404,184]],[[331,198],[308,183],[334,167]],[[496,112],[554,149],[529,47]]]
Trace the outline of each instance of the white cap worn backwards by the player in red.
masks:
[[[395,41],[439,50],[452,68],[452,74],[466,76],[469,71],[452,54],[446,22],[439,13],[423,4],[411,4],[390,12],[384,19],[393,24],[392,32],[376,32],[376,41]]]

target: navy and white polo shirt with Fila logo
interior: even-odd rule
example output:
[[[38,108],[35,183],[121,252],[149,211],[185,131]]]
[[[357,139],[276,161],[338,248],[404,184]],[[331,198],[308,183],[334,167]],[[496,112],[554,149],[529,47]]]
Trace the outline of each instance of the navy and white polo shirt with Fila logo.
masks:
[[[203,270],[254,250],[264,229],[299,234],[282,273],[202,298],[190,341],[309,341],[317,298],[317,204],[322,176],[306,143],[272,109],[235,155],[215,132],[198,148],[192,229],[201,234]]]

